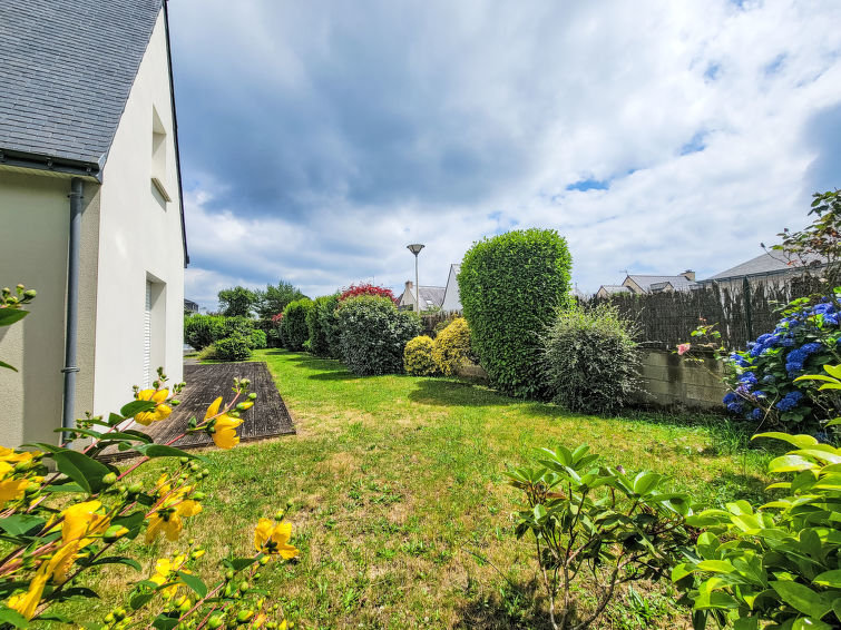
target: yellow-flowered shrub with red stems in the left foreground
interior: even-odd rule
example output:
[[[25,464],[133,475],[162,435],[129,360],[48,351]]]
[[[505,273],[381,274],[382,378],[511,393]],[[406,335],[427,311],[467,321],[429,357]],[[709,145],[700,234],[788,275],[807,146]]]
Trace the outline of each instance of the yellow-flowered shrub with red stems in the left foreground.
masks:
[[[0,326],[26,316],[21,307],[35,295],[21,285],[16,292],[0,291]],[[0,367],[14,370],[2,362]],[[31,621],[59,621],[108,630],[135,626],[157,630],[287,628],[280,607],[251,585],[271,558],[290,560],[299,553],[290,543],[292,526],[283,512],[275,521],[260,520],[254,552],[225,560],[215,584],[196,577],[193,568],[204,549],[188,541],[186,549],[158,559],[150,575],[129,583],[126,606],[101,622],[70,620],[51,610],[70,598],[98,597],[79,585],[77,578],[86,571],[113,564],[140,571],[133,549],[162,537],[180,539],[185,521],[203,511],[204,493],[198,486],[211,471],[203,467],[202,456],[173,444],[187,433],[206,433],[221,449],[236,446],[236,429],[243,422],[239,414],[256,398],[248,386],[247,380],[235,380],[226,403],[216,398],[201,422],[193,419],[184,433],[155,444],[134,424],[166,422],[184,388],[183,383],[168,386],[158,370],[151,388],[135,387],[134,401],[107,419],[88,415],[78,421],[77,427],[65,430],[68,442],[60,446],[0,446],[0,626],[26,628]],[[84,449],[70,447],[82,441],[87,441]],[[119,467],[100,461],[98,456],[110,447],[133,455],[131,463]],[[141,481],[148,475],[138,471],[162,457],[169,464],[167,471],[154,484]]]

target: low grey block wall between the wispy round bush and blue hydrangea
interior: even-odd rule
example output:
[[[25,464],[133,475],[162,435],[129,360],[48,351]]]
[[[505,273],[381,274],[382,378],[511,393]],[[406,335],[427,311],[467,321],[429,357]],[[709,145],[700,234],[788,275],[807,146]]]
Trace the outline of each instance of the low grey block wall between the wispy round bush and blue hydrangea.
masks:
[[[721,410],[727,390],[712,355],[696,363],[668,351],[642,350],[637,402],[653,406]]]

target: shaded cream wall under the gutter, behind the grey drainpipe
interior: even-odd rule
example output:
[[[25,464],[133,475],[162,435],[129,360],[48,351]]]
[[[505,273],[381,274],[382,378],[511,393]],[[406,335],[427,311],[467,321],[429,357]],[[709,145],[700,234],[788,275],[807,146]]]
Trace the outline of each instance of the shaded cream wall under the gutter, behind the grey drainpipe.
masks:
[[[0,328],[0,360],[19,372],[0,368],[0,445],[57,443],[63,391],[67,242],[70,178],[0,168],[0,286],[22,283],[38,296],[20,323]],[[99,186],[84,186],[77,417],[94,402],[94,328],[99,229]]]

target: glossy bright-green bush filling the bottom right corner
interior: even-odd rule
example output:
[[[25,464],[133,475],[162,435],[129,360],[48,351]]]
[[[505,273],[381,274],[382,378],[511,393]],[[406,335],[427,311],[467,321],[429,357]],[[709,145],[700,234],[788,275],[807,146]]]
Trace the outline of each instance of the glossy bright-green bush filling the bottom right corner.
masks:
[[[754,437],[794,446],[769,464],[771,474],[788,476],[769,489],[786,495],[761,508],[735,501],[688,518],[704,532],[694,558],[675,567],[672,579],[687,589],[698,628],[708,617],[739,630],[839,628],[841,449],[811,435]]]

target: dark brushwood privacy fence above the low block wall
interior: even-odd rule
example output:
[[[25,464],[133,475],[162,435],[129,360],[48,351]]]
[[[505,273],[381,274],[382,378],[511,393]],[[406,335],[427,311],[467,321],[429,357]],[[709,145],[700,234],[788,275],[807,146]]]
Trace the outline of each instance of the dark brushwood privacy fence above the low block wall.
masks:
[[[645,295],[614,295],[607,301],[639,328],[638,339],[646,345],[671,347],[691,341],[702,318],[718,324],[722,344],[728,350],[744,350],[749,341],[773,331],[778,312],[798,297],[824,291],[816,277],[804,276],[779,285],[734,283],[687,293],[654,293]],[[595,305],[600,298],[584,303]]]

